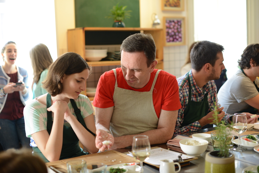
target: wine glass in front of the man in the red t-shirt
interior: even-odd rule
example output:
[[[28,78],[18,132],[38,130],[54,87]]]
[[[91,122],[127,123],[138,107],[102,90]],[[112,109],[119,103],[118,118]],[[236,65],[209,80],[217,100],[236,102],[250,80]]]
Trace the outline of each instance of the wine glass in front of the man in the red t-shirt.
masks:
[[[148,136],[136,135],[133,137],[132,154],[135,159],[140,161],[141,173],[143,172],[143,161],[149,158],[150,150]]]

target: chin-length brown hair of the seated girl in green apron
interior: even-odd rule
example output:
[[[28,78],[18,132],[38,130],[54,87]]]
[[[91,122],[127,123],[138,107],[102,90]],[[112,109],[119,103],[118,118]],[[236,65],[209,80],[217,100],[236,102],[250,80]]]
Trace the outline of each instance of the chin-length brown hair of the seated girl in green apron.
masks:
[[[42,82],[42,87],[51,96],[61,94],[63,86],[60,79],[64,74],[81,73],[85,69],[89,69],[89,74],[91,73],[91,68],[79,54],[73,52],[64,53],[49,66],[48,74],[46,80]]]

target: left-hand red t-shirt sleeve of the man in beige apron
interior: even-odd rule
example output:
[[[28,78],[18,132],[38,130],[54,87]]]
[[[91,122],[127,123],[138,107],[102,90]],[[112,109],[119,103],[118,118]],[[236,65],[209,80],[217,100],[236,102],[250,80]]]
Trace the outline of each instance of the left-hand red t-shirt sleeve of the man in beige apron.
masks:
[[[113,71],[107,71],[100,76],[97,84],[93,106],[98,108],[109,108],[114,106],[113,93],[115,75]]]

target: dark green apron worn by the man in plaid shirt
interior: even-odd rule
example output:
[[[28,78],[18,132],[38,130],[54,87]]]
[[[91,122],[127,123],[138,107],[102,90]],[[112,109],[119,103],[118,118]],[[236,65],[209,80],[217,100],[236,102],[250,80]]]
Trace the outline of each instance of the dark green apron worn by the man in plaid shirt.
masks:
[[[192,87],[191,82],[189,78],[189,72],[187,74],[188,82],[189,82],[189,98],[188,98],[188,104],[183,112],[183,122],[181,126],[188,126],[189,124],[200,120],[202,117],[208,114],[209,110],[209,103],[208,103],[208,93],[205,94],[203,101],[192,101]],[[208,125],[208,124],[207,124]],[[207,125],[205,125],[205,128],[208,128]],[[213,126],[212,124],[211,127]]]

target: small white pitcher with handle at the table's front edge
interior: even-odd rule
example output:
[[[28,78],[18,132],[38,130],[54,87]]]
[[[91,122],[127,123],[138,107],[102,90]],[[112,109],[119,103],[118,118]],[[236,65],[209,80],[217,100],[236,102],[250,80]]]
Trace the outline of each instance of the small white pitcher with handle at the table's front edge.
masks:
[[[181,170],[181,165],[178,162],[174,163],[174,161],[171,159],[160,160],[159,162],[160,162],[160,167],[159,167],[160,173],[177,173]],[[175,171],[175,164],[177,164],[179,167],[178,171]]]

